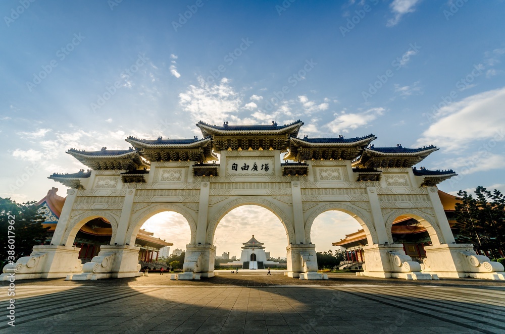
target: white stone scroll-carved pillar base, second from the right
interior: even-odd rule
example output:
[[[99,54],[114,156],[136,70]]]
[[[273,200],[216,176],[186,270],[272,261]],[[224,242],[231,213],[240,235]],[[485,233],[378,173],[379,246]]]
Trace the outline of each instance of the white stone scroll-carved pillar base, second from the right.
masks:
[[[405,280],[438,279],[430,273],[421,272],[421,265],[405,254],[401,244],[369,245],[363,249],[365,251],[364,271],[361,273],[363,276]]]

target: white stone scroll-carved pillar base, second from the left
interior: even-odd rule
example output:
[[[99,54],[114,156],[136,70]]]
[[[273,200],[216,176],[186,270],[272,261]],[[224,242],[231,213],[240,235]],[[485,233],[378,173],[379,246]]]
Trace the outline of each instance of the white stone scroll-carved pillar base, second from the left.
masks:
[[[72,281],[119,279],[141,276],[138,264],[139,247],[102,245],[97,256],[82,266],[82,273],[71,276]]]

